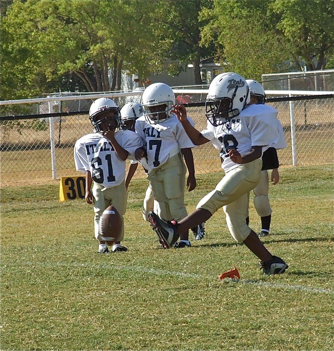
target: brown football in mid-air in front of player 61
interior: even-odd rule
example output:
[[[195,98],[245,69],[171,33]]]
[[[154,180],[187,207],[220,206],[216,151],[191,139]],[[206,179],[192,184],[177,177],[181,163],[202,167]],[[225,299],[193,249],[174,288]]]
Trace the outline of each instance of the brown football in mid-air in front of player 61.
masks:
[[[107,207],[100,217],[99,233],[105,241],[118,241],[122,230],[122,219],[114,206]]]

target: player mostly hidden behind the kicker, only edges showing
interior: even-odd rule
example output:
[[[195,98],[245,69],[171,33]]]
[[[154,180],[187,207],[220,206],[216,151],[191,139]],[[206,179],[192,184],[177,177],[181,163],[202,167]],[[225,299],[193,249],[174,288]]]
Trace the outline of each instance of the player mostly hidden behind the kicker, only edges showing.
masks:
[[[262,85],[253,79],[246,80],[249,87],[250,101],[248,105],[264,105],[266,101],[266,94],[263,90]],[[269,178],[268,170],[272,170],[271,181],[273,185],[279,182],[280,176],[278,172],[279,161],[277,151],[278,149],[285,148],[286,141],[282,125],[278,119],[276,119],[277,129],[279,133],[279,140],[271,145],[262,155],[262,168],[259,184],[253,189],[254,192],[254,206],[258,215],[261,217],[261,232],[258,234],[260,237],[266,237],[269,234],[270,222],[272,209],[269,204],[268,192],[269,192]],[[249,224],[249,217],[246,218],[247,224]]]

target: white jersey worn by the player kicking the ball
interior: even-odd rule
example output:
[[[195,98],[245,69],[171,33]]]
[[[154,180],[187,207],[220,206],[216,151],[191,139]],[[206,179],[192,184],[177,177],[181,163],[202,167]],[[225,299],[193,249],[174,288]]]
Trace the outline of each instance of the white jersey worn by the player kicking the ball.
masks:
[[[242,156],[250,152],[252,146],[263,146],[264,152],[278,141],[277,113],[269,105],[249,105],[226,124],[214,127],[207,121],[207,128],[201,134],[211,140],[215,148],[220,147],[221,167],[226,172],[239,166],[229,158],[229,150],[236,149]]]

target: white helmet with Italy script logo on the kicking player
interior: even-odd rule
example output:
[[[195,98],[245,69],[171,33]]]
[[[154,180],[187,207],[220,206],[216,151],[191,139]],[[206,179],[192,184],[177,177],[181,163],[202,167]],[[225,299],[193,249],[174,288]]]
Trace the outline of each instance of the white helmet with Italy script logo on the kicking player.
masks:
[[[238,116],[248,102],[249,89],[245,78],[237,73],[221,73],[210,83],[205,115],[216,127]]]

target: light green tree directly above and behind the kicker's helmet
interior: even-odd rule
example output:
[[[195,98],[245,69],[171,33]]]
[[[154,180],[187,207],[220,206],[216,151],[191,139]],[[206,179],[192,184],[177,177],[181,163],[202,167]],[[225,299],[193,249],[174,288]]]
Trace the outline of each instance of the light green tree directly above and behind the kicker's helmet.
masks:
[[[200,19],[208,21],[202,28],[202,45],[218,42],[216,59],[246,78],[285,71],[286,41],[275,28],[278,16],[269,15],[270,2],[215,0],[212,9],[200,14]]]

